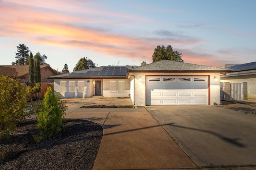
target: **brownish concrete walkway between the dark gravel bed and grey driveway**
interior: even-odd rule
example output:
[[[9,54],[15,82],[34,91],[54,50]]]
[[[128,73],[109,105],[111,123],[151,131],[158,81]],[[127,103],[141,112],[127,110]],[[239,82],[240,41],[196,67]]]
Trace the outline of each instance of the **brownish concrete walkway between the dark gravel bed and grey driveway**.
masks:
[[[68,107],[67,119],[86,119],[103,127],[94,170],[196,168],[196,164],[146,109],[81,109],[100,98]]]

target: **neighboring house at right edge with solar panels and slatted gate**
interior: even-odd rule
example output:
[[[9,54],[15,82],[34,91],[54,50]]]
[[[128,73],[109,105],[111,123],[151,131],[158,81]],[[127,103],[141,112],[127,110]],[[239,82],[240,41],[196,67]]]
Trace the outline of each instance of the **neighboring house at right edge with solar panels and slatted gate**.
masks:
[[[226,95],[223,98],[226,100],[256,100],[256,62],[225,66],[224,68],[232,69],[233,72],[220,75]]]

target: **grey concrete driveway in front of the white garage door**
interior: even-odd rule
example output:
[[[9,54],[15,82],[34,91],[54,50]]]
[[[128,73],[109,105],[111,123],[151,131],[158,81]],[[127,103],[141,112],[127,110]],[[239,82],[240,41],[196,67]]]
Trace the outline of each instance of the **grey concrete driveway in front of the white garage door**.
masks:
[[[256,115],[221,106],[146,109],[197,166],[256,165]]]

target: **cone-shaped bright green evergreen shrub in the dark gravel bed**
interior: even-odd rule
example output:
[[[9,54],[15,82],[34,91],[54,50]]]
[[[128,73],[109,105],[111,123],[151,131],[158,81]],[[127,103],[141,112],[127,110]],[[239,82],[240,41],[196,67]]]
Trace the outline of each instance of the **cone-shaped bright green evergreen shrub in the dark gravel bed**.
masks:
[[[62,123],[61,109],[51,87],[44,94],[41,111],[38,114],[37,127],[44,138],[55,136],[60,131]]]

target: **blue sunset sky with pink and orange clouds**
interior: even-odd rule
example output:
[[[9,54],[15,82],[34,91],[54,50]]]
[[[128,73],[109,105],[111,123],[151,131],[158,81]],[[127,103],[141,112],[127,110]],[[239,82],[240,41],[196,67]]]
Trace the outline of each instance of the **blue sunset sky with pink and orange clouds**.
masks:
[[[19,44],[72,71],[82,57],[98,66],[152,63],[171,45],[185,63],[256,61],[256,0],[0,0],[0,65]]]

